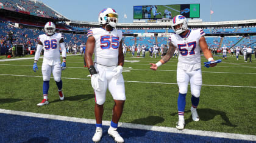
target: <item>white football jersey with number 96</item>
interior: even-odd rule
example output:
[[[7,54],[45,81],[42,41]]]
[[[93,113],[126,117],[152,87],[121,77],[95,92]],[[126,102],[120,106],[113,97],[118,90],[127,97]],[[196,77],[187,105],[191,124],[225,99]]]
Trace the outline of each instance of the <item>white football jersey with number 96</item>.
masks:
[[[60,39],[63,39],[63,35],[61,33],[55,33],[52,36],[48,36],[46,34],[38,36],[38,40],[43,43],[44,58],[60,58]]]

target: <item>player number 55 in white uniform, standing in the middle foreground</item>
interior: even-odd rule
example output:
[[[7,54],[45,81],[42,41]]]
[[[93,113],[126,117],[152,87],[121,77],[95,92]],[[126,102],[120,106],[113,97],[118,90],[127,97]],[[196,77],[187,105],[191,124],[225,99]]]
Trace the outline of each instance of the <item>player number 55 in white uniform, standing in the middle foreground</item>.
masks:
[[[122,31],[116,30],[118,13],[112,8],[105,8],[99,13],[101,28],[91,28],[87,34],[86,59],[91,74],[91,86],[94,88],[96,132],[92,138],[99,142],[102,136],[102,116],[107,88],[112,94],[115,105],[108,135],[116,142],[124,142],[117,131],[118,121],[123,113],[126,100],[124,78],[122,75],[124,55]],[[94,61],[92,59],[94,53]]]

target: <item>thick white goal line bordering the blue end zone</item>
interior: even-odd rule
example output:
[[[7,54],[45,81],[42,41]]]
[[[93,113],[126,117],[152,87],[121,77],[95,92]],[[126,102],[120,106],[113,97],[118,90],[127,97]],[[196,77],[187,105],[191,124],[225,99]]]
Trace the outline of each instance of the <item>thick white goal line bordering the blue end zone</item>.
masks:
[[[68,116],[59,116],[59,115],[48,115],[48,114],[41,114],[41,113],[32,113],[27,111],[14,111],[14,110],[6,110],[0,108],[0,113],[9,114],[9,115],[20,115],[20,116],[29,116],[34,118],[43,118],[43,119],[54,119],[60,121],[68,121],[68,122],[80,122],[85,124],[95,124],[96,121],[94,119],[85,119],[85,118],[75,118],[75,117],[68,117]],[[102,121],[102,125],[110,125],[110,121]],[[256,136],[254,135],[241,135],[235,133],[222,133],[216,131],[202,131],[202,130],[177,130],[176,128],[171,127],[160,127],[160,126],[153,126],[153,125],[141,125],[141,124],[132,124],[132,123],[125,123],[119,122],[118,127],[123,128],[133,128],[139,130],[151,130],[151,131],[162,131],[167,133],[181,133],[187,135],[196,135],[196,136],[209,136],[213,138],[227,138],[227,139],[240,139],[240,140],[247,140],[247,141],[256,141]]]

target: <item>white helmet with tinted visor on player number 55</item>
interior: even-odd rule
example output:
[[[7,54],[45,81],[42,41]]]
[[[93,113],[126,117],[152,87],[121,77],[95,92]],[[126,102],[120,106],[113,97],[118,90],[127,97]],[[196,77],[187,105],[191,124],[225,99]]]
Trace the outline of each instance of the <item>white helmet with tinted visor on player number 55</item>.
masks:
[[[118,13],[112,8],[105,8],[99,12],[99,24],[109,24],[112,27],[116,27],[118,23]]]

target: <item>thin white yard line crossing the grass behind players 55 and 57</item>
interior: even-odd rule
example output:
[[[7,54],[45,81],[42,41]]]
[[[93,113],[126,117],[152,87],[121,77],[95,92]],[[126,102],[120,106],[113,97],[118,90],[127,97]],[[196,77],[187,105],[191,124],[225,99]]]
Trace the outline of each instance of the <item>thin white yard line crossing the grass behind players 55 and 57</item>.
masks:
[[[29,75],[10,75],[10,74],[1,74],[0,76],[24,76],[24,77],[35,77],[35,78],[43,78],[43,76],[29,76]],[[53,78],[53,77],[51,77]],[[62,79],[78,79],[78,80],[91,80],[90,78],[63,78]],[[149,82],[149,81],[124,81],[124,82],[137,82],[137,83],[146,83],[146,84],[174,84],[177,83],[169,83],[169,82]],[[238,85],[212,85],[212,84],[203,84],[202,86],[212,86],[212,87],[240,87],[240,88],[256,88],[250,86],[238,86]]]

